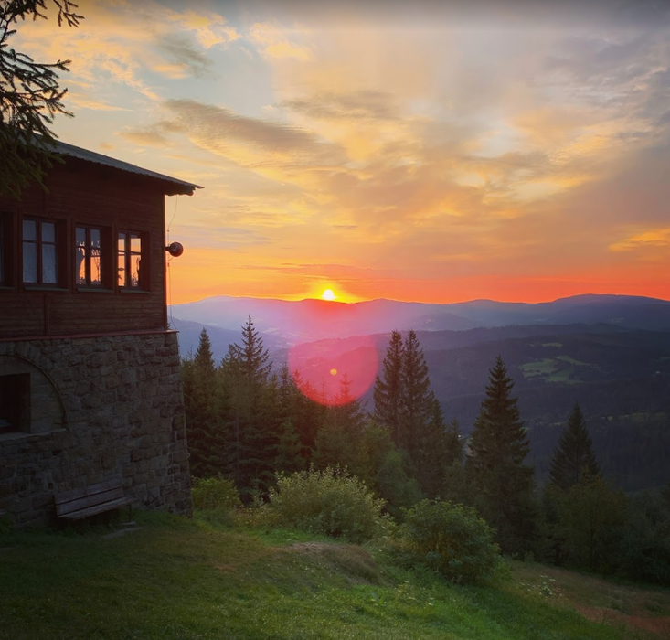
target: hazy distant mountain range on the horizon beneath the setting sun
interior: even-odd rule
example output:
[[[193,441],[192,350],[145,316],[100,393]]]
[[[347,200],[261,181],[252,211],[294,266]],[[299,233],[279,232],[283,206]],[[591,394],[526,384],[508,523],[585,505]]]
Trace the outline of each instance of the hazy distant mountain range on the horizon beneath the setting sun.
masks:
[[[213,342],[228,347],[239,338],[251,316],[267,347],[276,348],[324,338],[344,338],[406,331],[463,331],[509,325],[606,324],[627,329],[670,329],[670,302],[627,295],[576,295],[550,303],[423,304],[392,300],[337,303],[324,300],[268,300],[217,296],[170,308],[175,328],[182,332],[182,353],[197,346],[201,326]],[[197,323],[197,325],[186,324]],[[230,334],[229,332],[233,332]],[[218,356],[223,353],[217,349]]]

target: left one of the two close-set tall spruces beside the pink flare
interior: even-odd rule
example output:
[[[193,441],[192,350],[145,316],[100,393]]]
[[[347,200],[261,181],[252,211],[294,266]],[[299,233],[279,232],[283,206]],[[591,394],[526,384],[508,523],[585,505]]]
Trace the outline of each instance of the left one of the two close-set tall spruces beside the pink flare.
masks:
[[[391,333],[386,357],[382,362],[382,377],[375,380],[373,399],[375,420],[388,428],[396,446],[400,446],[401,386],[404,347],[399,331]]]

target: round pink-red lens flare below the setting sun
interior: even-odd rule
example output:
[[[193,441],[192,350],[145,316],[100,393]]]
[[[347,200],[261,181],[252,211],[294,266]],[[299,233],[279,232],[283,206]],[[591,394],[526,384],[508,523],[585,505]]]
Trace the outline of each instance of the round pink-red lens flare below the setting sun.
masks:
[[[321,340],[292,347],[288,366],[303,395],[335,407],[365,395],[377,376],[379,356],[369,337]]]

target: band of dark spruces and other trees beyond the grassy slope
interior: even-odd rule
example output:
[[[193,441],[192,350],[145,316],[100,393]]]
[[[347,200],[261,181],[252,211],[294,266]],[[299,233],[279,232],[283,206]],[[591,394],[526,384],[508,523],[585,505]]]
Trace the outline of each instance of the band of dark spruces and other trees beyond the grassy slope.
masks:
[[[250,317],[220,363],[203,329],[196,352],[182,361],[182,379],[191,474],[233,481],[247,504],[267,499],[282,475],[346,468],[398,522],[423,498],[439,498],[475,508],[505,554],[670,581],[670,477],[665,486],[624,493],[602,473],[580,402],[566,398],[538,482],[503,357],[481,380],[467,436],[443,414],[413,330],[391,333],[367,405],[346,374],[328,395],[286,364],[274,366]]]

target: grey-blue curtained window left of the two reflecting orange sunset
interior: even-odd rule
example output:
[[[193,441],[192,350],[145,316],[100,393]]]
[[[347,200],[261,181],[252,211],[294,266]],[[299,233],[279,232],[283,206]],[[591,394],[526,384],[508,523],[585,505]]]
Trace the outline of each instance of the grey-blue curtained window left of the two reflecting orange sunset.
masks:
[[[58,244],[55,222],[24,219],[23,282],[58,284]]]

